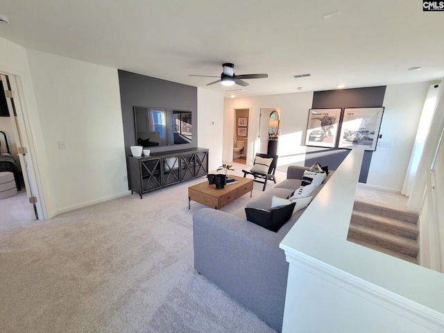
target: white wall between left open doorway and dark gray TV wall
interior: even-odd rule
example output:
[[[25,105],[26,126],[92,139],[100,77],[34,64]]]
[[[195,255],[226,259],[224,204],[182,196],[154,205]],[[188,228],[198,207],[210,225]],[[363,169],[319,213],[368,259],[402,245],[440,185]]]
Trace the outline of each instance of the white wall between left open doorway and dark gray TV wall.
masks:
[[[127,194],[117,69],[29,49],[27,56],[46,152],[49,217]]]

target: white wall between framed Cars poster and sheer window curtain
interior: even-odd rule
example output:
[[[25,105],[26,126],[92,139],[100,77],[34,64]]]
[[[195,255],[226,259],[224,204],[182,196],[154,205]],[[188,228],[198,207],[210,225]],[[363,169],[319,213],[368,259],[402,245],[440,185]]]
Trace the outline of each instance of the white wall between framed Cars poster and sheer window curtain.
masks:
[[[388,85],[384,96],[381,130],[383,141],[373,153],[367,184],[400,191],[409,166],[425,95],[431,83]]]

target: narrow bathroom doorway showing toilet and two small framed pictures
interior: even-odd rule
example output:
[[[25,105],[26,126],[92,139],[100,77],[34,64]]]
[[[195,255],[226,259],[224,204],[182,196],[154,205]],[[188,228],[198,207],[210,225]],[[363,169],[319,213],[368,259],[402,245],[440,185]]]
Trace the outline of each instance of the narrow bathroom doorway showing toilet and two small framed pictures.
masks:
[[[246,164],[250,109],[234,109],[233,162]]]

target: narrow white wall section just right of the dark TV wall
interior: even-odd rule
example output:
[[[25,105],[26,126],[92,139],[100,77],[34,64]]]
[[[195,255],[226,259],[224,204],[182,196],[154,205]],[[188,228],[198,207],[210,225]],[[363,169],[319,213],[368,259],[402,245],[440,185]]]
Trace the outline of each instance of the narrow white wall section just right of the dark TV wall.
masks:
[[[210,149],[209,171],[215,171],[222,163],[223,94],[208,89],[197,89],[198,142]]]

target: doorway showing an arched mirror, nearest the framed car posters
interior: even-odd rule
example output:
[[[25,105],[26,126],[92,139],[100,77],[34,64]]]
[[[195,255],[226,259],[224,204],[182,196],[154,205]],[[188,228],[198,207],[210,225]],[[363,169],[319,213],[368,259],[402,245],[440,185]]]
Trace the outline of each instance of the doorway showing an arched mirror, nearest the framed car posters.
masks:
[[[280,108],[261,108],[259,115],[259,152],[278,155]]]

